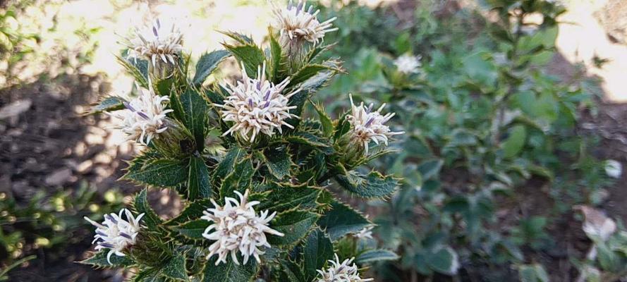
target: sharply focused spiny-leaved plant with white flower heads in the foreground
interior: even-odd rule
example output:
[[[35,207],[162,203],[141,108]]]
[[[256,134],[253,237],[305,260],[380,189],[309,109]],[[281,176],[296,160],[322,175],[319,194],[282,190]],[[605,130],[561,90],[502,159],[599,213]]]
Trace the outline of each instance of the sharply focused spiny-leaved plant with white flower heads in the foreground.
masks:
[[[394,114],[384,106],[372,111],[350,97],[351,111],[333,120],[311,102],[342,72],[339,61],[320,59],[334,19],[319,21],[312,10],[303,1],[275,7],[267,49],[225,32],[234,43],[202,55],[193,76],[176,26],[155,20],[128,39],[129,56],[118,61],[139,95],[104,97],[92,113],[111,114],[143,147],[123,179],[174,189],[185,208],[162,219],[145,189],[132,212],[87,219],[97,252],[84,264],[135,269],[133,281],[356,282],[372,280],[360,274],[372,262],[396,259],[365,243],[372,223],[329,188],[391,195],[398,180],[356,169],[389,153],[389,139],[402,132],[386,125]],[[229,56],[241,78],[203,85]],[[316,118],[303,115],[307,104]]]

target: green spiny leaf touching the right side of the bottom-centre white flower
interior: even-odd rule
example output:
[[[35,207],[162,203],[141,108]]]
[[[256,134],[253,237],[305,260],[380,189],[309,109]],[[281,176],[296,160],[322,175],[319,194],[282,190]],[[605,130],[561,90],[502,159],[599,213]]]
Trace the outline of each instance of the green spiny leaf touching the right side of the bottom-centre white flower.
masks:
[[[319,215],[312,212],[293,210],[278,214],[270,223],[270,228],[284,233],[284,236],[270,235],[270,245],[289,245],[303,239],[312,229]]]

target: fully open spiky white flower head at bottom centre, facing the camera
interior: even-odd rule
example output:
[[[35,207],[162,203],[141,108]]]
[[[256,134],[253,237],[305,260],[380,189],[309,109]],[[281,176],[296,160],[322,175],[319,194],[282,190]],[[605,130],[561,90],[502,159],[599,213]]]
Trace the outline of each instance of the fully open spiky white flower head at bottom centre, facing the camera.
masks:
[[[253,206],[260,204],[258,201],[248,202],[248,190],[241,192],[234,191],[240,200],[231,197],[224,198],[224,207],[221,207],[213,199],[213,209],[207,209],[201,219],[212,221],[212,224],[205,229],[202,237],[215,242],[209,246],[209,255],[207,259],[213,255],[217,255],[216,265],[220,262],[226,263],[226,257],[231,254],[231,258],[235,264],[239,264],[237,253],[243,256],[243,263],[246,264],[248,259],[255,257],[257,262],[261,262],[260,255],[264,252],[260,247],[270,247],[267,241],[266,233],[283,236],[284,234],[276,231],[268,226],[268,223],[274,219],[276,212],[268,215],[268,211],[263,211],[259,215],[255,212]]]

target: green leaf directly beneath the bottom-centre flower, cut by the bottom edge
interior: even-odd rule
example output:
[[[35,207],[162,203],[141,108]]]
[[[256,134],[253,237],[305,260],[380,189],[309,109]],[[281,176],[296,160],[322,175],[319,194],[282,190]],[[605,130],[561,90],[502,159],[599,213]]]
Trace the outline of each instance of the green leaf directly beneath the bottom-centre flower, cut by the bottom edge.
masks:
[[[226,263],[215,265],[216,259],[214,256],[205,264],[202,282],[249,282],[257,274],[257,263],[254,258],[249,259],[247,264],[242,264],[240,259],[239,265],[233,263],[231,257],[226,259]]]

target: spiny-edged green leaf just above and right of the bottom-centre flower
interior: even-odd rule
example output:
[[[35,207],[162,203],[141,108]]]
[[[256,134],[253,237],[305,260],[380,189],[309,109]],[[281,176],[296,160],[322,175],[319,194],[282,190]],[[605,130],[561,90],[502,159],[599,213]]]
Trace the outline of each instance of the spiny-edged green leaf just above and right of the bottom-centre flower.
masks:
[[[274,185],[270,194],[257,206],[259,210],[269,209],[271,212],[284,212],[288,209],[313,209],[317,207],[316,199],[320,190],[300,186]]]

